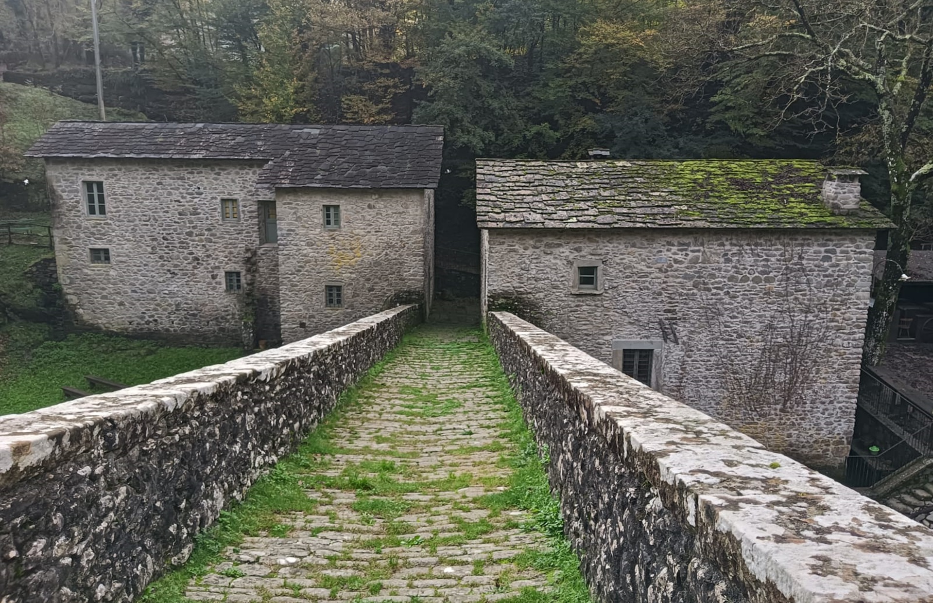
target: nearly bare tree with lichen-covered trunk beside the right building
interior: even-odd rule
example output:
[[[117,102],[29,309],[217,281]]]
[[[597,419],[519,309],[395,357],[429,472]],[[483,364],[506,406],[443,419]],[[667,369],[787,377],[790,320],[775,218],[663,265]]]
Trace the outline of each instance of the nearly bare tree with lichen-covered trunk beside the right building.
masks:
[[[695,0],[675,8],[669,35],[679,41],[671,48],[702,58],[699,81],[755,89],[760,106],[747,110],[767,107],[771,125],[794,119],[826,131],[837,128],[842,105],[872,106],[863,131],[876,134],[869,150],[887,168],[887,215],[897,226],[866,334],[864,358],[877,364],[910,254],[912,199],[933,175],[921,125],[933,83],[933,0]]]

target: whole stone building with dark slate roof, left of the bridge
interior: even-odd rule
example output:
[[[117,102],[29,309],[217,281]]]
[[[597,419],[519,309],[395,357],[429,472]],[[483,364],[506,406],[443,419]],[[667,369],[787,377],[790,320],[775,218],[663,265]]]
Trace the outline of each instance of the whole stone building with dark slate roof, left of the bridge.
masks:
[[[294,341],[433,289],[439,126],[60,122],[46,162],[79,323]]]

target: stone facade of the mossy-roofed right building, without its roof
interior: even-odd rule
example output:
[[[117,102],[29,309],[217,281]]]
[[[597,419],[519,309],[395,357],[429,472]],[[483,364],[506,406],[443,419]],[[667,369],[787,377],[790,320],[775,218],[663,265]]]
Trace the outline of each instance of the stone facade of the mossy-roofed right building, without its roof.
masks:
[[[490,230],[484,288],[490,310],[606,362],[614,348],[653,346],[659,391],[773,450],[838,467],[855,421],[873,236]],[[573,291],[578,261],[601,264],[601,291]]]

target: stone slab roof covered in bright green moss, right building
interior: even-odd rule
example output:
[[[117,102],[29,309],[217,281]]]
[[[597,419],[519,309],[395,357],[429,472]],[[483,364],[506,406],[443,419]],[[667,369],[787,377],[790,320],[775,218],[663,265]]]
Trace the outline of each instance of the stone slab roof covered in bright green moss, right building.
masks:
[[[497,228],[889,228],[832,214],[818,161],[479,160],[476,215]]]

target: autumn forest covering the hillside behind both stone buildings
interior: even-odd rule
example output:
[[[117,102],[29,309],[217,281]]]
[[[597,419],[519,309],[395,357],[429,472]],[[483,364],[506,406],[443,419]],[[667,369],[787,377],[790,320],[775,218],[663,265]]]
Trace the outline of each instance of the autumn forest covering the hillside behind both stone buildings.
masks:
[[[93,102],[90,1],[2,0],[5,80]],[[879,325],[895,265],[930,236],[933,0],[100,0],[98,15],[108,105],[441,124],[448,206],[472,203],[476,157],[860,166],[898,226]],[[0,181],[20,153],[0,135]]]

